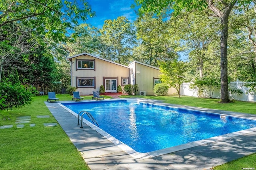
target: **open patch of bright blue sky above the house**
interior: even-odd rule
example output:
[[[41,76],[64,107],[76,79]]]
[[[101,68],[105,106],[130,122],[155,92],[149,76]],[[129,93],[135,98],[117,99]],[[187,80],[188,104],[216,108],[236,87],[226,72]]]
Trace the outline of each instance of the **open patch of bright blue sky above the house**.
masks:
[[[134,0],[87,0],[92,6],[92,11],[96,12],[94,18],[88,18],[87,24],[102,28],[105,20],[114,20],[118,16],[125,16],[130,22],[136,19],[134,9],[130,6]]]

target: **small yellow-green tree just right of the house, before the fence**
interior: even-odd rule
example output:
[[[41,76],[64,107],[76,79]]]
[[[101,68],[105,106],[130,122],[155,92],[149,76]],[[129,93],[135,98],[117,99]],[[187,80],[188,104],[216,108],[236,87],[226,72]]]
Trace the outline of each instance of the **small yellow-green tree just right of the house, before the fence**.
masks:
[[[186,71],[186,63],[174,59],[168,62],[159,62],[160,65],[160,79],[163,83],[174,87],[178,91],[180,97],[180,86],[184,83],[184,73]]]

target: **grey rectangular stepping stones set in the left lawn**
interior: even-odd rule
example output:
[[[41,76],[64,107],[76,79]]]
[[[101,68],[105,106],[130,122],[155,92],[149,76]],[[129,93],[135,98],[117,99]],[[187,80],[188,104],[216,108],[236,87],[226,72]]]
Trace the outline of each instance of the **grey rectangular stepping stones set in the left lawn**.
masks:
[[[36,116],[37,118],[50,118],[50,115],[38,115]],[[6,121],[6,118],[3,119],[4,121]],[[10,118],[8,118],[8,120],[11,120]],[[17,128],[24,128],[25,127],[25,123],[30,123],[31,121],[31,116],[21,116],[21,117],[17,117],[15,124]],[[36,124],[31,123],[30,127],[35,127]],[[58,126],[57,123],[44,123],[45,127],[54,127],[54,126]],[[12,128],[13,125],[4,125],[4,126],[0,126],[0,129],[5,129],[5,128]]]

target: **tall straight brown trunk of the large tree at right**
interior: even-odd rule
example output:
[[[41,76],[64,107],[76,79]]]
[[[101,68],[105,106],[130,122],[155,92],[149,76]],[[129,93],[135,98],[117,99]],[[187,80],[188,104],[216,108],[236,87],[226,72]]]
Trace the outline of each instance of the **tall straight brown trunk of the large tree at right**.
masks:
[[[220,35],[220,102],[230,102],[228,96],[228,16],[221,20],[222,30]]]

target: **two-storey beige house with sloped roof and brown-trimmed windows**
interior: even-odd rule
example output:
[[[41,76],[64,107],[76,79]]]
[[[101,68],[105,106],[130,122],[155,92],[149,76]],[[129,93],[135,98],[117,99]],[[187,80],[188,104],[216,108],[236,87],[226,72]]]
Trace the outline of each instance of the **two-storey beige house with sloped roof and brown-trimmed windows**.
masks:
[[[116,92],[118,85],[138,84],[138,94],[154,95],[153,88],[160,83],[157,67],[134,61],[129,66],[81,53],[68,57],[71,65],[71,86],[77,87],[80,95],[91,95],[103,85],[105,92]],[[175,91],[176,92],[176,91]],[[169,94],[175,93],[169,90]]]

